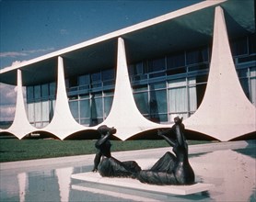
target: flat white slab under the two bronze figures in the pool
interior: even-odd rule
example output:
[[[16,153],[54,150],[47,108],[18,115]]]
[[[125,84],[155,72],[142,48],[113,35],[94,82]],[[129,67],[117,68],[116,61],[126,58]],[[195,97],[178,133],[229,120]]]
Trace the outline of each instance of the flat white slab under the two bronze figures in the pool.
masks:
[[[99,173],[81,173],[72,174],[71,178],[86,181],[90,183],[98,183],[102,185],[114,185],[123,188],[136,189],[145,192],[151,192],[164,195],[192,195],[207,191],[214,187],[211,184],[196,183],[194,185],[147,185],[142,184],[138,180],[131,178],[109,178],[102,177]]]

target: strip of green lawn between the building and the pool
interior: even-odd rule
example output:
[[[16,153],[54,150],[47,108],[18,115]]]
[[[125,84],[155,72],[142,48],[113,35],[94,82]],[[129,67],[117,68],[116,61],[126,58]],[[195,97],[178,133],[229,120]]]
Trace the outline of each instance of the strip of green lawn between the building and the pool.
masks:
[[[52,158],[95,153],[96,140],[17,140],[0,138],[0,162]],[[190,140],[189,144],[210,141]],[[165,140],[111,140],[111,151],[169,147]]]

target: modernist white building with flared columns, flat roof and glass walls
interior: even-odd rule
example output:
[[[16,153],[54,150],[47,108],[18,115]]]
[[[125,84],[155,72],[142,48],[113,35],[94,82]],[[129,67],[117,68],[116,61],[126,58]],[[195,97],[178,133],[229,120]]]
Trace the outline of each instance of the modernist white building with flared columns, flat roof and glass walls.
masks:
[[[253,138],[254,4],[204,1],[0,70],[17,85],[0,132],[92,139],[104,124],[120,140],[146,139],[180,116],[188,139]]]

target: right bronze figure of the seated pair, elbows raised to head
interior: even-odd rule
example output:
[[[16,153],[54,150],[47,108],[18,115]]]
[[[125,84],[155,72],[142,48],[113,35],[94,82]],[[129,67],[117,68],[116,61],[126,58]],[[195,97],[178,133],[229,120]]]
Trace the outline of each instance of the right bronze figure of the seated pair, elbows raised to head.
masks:
[[[171,129],[160,131],[158,135],[167,140],[173,147],[173,152],[166,152],[150,170],[142,170],[137,179],[142,183],[152,185],[192,185],[194,173],[188,160],[188,144],[184,137],[184,125],[182,118],[174,118],[174,125]],[[170,139],[167,135],[174,133],[176,140]]]

